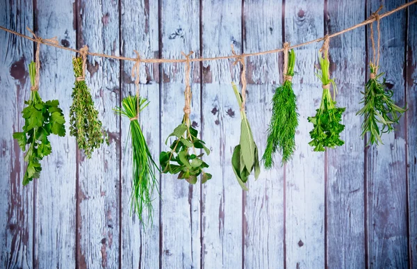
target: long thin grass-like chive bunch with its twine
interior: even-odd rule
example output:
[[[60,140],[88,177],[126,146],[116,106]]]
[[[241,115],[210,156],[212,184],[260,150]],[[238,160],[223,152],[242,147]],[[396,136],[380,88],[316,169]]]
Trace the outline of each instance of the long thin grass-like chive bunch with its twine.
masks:
[[[136,53],[136,62],[133,65],[131,76],[135,79],[136,95],[129,95],[122,100],[122,107],[114,108],[117,115],[129,118],[129,132],[132,150],[132,192],[131,212],[135,212],[142,225],[153,223],[154,207],[152,206],[154,190],[158,192],[156,170],[159,171],[152,154],[149,151],[145,136],[139,124],[140,112],[149,104],[149,101],[140,97],[140,56]],[[128,136],[129,137],[129,136]],[[147,213],[147,218],[145,217]]]

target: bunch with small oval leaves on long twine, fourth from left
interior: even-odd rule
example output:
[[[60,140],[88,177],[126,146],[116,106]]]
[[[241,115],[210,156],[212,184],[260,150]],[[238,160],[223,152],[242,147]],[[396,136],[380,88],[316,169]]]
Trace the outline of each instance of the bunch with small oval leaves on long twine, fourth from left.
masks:
[[[204,153],[198,154],[195,149],[204,149],[206,154],[210,154],[210,150],[206,147],[203,140],[197,138],[198,132],[190,126],[190,102],[191,102],[191,87],[190,87],[190,61],[189,56],[193,51],[186,56],[186,90],[184,95],[186,97],[186,105],[184,106],[184,116],[181,124],[177,126],[174,131],[165,140],[165,145],[170,137],[174,136],[176,139],[170,145],[170,152],[161,152],[159,161],[161,169],[164,174],[178,174],[178,179],[186,179],[190,184],[197,183],[197,177],[202,175],[202,184],[211,179],[212,175],[204,172],[204,168],[208,168],[208,164],[202,160]],[[193,148],[193,153],[190,154],[190,148]]]

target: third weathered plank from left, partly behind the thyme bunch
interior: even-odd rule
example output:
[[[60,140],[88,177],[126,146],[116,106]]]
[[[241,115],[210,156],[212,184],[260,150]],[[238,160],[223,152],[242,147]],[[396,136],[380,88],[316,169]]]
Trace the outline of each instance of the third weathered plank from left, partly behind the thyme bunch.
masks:
[[[119,54],[117,1],[81,1],[79,47]],[[91,159],[79,152],[79,253],[81,268],[117,268],[120,243],[120,61],[88,57],[86,81],[110,145],[101,146]]]

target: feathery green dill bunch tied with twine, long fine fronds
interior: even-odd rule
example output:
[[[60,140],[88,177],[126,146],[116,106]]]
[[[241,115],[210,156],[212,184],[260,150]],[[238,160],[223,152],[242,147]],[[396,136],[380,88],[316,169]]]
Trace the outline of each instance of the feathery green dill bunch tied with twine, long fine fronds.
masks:
[[[285,43],[284,47],[288,47],[288,43]],[[295,151],[295,129],[298,126],[298,113],[297,96],[294,94],[291,82],[294,75],[294,65],[294,50],[284,51],[284,83],[277,88],[272,98],[272,117],[262,157],[263,164],[267,169],[272,168],[274,154],[277,150],[281,153],[282,165],[291,159]]]

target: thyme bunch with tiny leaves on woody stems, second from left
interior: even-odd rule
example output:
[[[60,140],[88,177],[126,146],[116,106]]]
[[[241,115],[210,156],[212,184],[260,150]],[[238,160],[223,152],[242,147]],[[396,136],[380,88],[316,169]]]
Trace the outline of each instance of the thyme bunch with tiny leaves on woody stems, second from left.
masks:
[[[71,95],[73,102],[70,107],[70,134],[75,136],[77,145],[79,149],[83,149],[85,156],[91,158],[92,152],[104,141],[108,145],[108,136],[101,127],[99,111],[95,108],[90,89],[85,83],[85,56],[72,59],[76,80]]]

